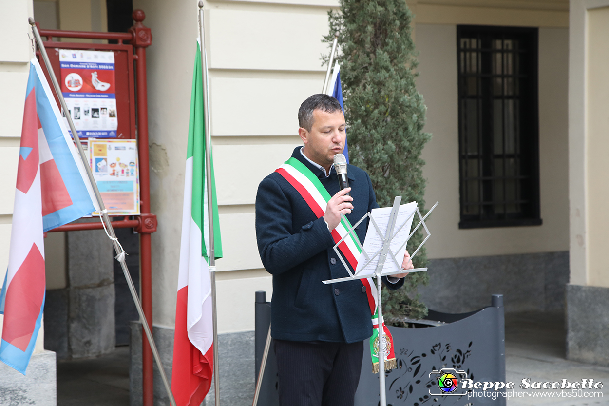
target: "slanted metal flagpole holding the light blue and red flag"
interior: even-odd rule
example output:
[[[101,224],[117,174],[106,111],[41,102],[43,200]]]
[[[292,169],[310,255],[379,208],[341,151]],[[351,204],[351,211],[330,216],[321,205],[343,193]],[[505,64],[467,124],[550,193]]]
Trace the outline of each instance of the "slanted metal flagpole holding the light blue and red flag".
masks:
[[[86,158],[85,151],[82,148],[82,144],[80,143],[80,138],[78,133],[76,132],[76,127],[74,127],[74,122],[72,121],[72,117],[69,115],[68,106],[66,105],[65,99],[63,99],[62,89],[60,88],[57,77],[55,77],[55,71],[51,66],[51,62],[49,61],[49,55],[46,54],[46,48],[44,48],[44,44],[42,42],[42,38],[40,38],[40,32],[38,32],[38,27],[32,17],[28,19],[30,25],[32,26],[32,32],[34,37],[36,38],[36,43],[38,44],[38,50],[42,55],[44,60],[44,65],[46,65],[46,69],[49,72],[49,76],[51,77],[51,82],[53,83],[53,87],[55,88],[55,93],[57,93],[57,97],[62,106],[63,112],[68,119],[68,125],[70,130],[72,131],[72,137],[74,141],[76,141],[76,146],[78,148],[80,159],[82,160],[83,165],[85,166],[86,174],[89,177],[89,181],[91,182],[91,187],[93,187],[93,191],[95,193],[95,197],[97,199],[97,204],[99,204],[99,213],[102,216],[102,224],[104,225],[104,230],[106,231],[110,240],[112,240],[112,244],[114,246],[114,251],[116,252],[116,259],[121,264],[122,273],[127,279],[127,285],[131,292],[131,296],[133,297],[133,302],[135,303],[135,307],[138,310],[139,319],[142,321],[142,326],[144,327],[144,331],[146,332],[146,337],[148,338],[148,342],[150,343],[150,347],[152,348],[152,354],[154,355],[155,361],[157,361],[157,366],[159,372],[161,372],[161,379],[163,379],[163,385],[167,390],[167,395],[169,396],[169,402],[171,402],[172,406],[176,406],[174,395],[171,392],[171,386],[169,385],[169,380],[167,380],[167,376],[165,374],[165,370],[163,368],[163,364],[161,363],[161,357],[158,355],[157,346],[154,343],[152,338],[152,332],[150,332],[150,326],[148,326],[148,322],[146,321],[146,316],[144,316],[144,310],[142,309],[142,304],[139,302],[138,294],[135,291],[135,287],[133,286],[133,280],[131,279],[131,275],[129,274],[129,269],[127,268],[127,264],[125,263],[125,251],[122,249],[121,244],[118,242],[118,238],[116,238],[116,234],[114,234],[114,229],[112,227],[112,223],[110,223],[110,217],[108,217],[108,211],[105,208],[104,201],[102,200],[101,194],[99,194],[99,189],[97,189],[97,183],[93,178],[93,173],[91,172],[91,167],[89,165],[89,160]]]

